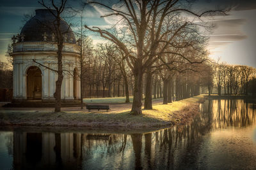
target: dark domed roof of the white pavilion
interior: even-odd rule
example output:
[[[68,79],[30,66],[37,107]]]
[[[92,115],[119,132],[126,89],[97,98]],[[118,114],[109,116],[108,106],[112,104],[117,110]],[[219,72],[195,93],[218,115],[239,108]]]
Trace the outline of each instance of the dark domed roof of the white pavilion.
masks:
[[[52,12],[56,13],[56,10],[52,10]],[[56,36],[52,34],[56,32],[54,20],[56,18],[52,15],[51,11],[47,9],[36,10],[36,15],[28,20],[22,28],[20,41],[56,41]],[[60,22],[60,28],[61,32],[67,32],[64,34],[64,41],[76,43],[72,29],[63,19]]]

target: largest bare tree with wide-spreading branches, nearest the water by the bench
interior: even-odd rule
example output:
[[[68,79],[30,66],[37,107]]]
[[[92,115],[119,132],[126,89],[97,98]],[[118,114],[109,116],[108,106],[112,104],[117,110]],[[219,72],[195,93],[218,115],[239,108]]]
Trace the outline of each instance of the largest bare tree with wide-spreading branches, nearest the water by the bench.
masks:
[[[158,59],[157,53],[163,53],[167,46],[172,42],[180,30],[186,25],[189,25],[188,21],[184,21],[179,28],[173,32],[172,36],[168,37],[168,40],[164,43],[161,50],[158,49],[161,39],[168,33],[162,32],[164,20],[166,17],[170,17],[173,13],[188,12],[196,17],[201,17],[205,13],[212,13],[214,11],[207,11],[204,13],[196,14],[193,11],[184,8],[182,6],[183,1],[120,1],[120,4],[116,4],[113,7],[107,6],[103,3],[92,2],[90,4],[100,5],[113,13],[104,15],[102,17],[118,16],[122,17],[124,23],[127,25],[127,32],[131,34],[132,45],[127,46],[125,42],[116,37],[110,31],[100,29],[99,27],[90,28],[84,25],[87,29],[93,32],[98,32],[100,36],[115,43],[127,56],[126,61],[129,67],[131,67],[134,75],[134,99],[132,103],[131,112],[134,115],[140,115],[141,112],[141,82],[143,80],[143,73],[145,69],[151,67]],[[120,10],[122,9],[122,10]],[[186,57],[184,56],[186,59]]]

